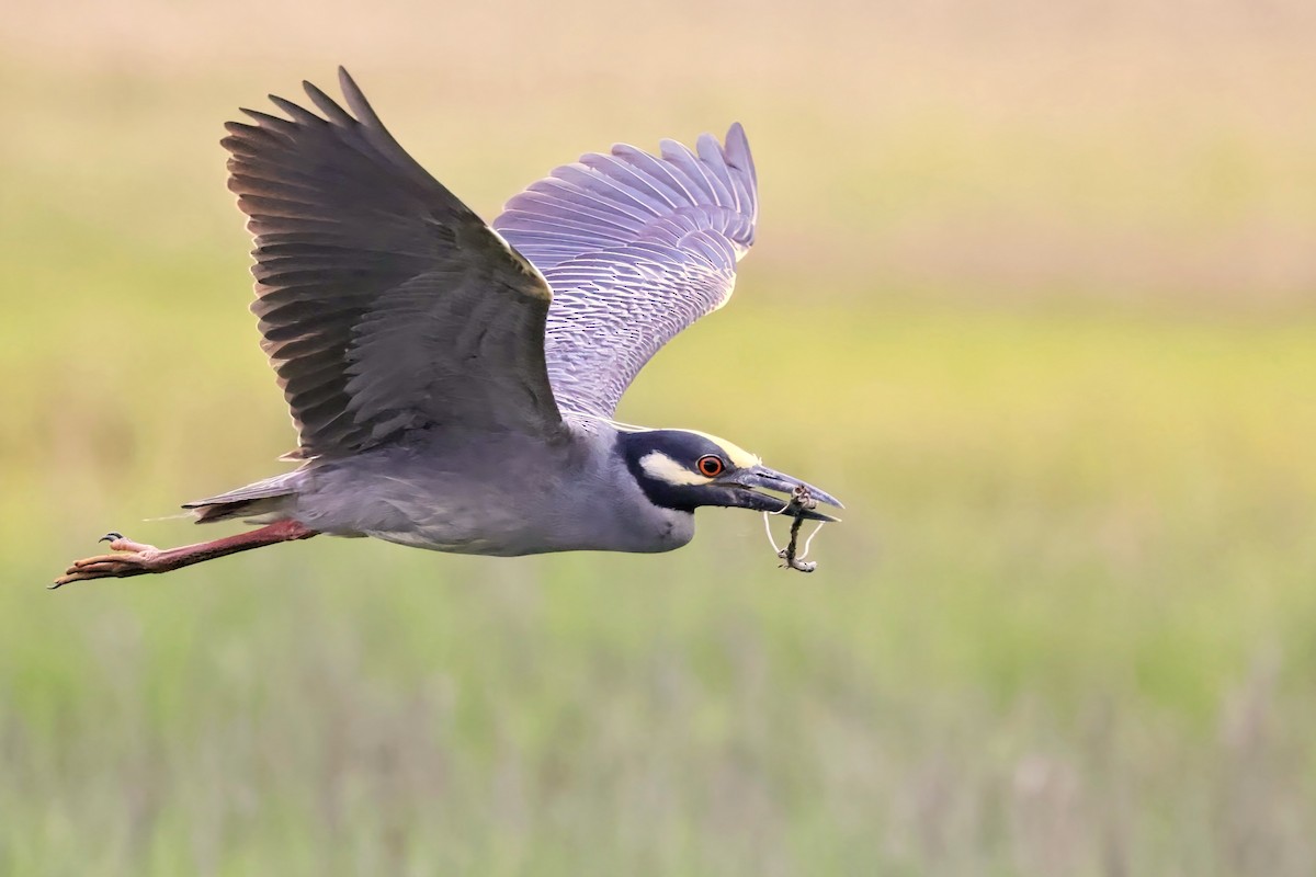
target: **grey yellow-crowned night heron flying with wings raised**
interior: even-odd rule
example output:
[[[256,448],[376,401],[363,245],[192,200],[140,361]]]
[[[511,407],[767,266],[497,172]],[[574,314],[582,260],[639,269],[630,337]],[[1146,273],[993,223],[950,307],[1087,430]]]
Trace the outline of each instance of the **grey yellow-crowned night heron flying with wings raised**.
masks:
[[[758,489],[840,506],[724,439],[612,419],[649,358],[732,295],[758,214],[740,125],[725,146],[584,155],[490,227],[340,82],[350,113],[307,83],[322,116],[271,97],[287,118],[243,110],[254,124],[224,139],[300,468],[184,506],[258,530],[167,551],[109,534],[116,554],[57,585],[321,533],[504,556],[669,551],[699,506],[787,508]]]

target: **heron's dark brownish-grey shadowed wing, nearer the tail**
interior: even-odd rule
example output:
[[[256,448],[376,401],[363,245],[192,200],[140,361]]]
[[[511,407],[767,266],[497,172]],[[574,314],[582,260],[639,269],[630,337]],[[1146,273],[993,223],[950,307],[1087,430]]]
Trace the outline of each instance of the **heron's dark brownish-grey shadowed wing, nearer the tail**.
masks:
[[[417,164],[345,70],[349,114],[243,110],[224,146],[255,237],[262,346],[300,434],[341,456],[405,430],[562,429],[544,362],[542,275]]]

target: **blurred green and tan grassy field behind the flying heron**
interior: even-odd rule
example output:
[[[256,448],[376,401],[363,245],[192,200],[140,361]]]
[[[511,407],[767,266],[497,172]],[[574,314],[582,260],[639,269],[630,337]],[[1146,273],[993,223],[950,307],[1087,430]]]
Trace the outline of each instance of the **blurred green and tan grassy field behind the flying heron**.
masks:
[[[1316,870],[1309,4],[440,5],[7,14],[0,873]],[[705,511],[42,590],[279,471],[217,139],[340,62],[486,216],[745,122],[738,297],[621,415],[841,496],[817,573]]]

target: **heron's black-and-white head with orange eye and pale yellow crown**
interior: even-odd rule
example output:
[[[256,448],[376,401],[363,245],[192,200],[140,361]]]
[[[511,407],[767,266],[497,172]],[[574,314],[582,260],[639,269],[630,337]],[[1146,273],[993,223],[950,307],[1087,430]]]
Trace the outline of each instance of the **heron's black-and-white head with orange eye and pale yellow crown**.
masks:
[[[617,440],[645,496],[667,509],[694,511],[711,505],[778,513],[786,509],[796,488],[807,489],[819,502],[842,508],[830,494],[767,468],[749,451],[715,435],[692,430],[634,430],[620,433]],[[816,509],[805,510],[803,517],[837,519]]]

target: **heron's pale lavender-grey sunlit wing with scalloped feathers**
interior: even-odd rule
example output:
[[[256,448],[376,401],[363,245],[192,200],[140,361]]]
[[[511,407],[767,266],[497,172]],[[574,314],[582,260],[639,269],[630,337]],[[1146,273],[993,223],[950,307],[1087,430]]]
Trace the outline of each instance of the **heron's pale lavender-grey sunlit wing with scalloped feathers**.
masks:
[[[562,409],[612,417],[658,348],[730,298],[757,218],[740,125],[725,149],[704,134],[696,151],[583,155],[508,201],[494,227],[553,287],[545,355]]]

